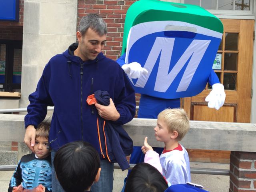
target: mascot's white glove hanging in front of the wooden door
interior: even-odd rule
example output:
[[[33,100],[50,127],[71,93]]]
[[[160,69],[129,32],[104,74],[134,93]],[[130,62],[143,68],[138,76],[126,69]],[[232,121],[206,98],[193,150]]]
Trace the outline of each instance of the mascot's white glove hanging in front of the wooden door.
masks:
[[[208,102],[209,108],[218,110],[224,104],[225,98],[224,86],[220,83],[216,83],[212,85],[212,91],[205,98],[205,101]]]

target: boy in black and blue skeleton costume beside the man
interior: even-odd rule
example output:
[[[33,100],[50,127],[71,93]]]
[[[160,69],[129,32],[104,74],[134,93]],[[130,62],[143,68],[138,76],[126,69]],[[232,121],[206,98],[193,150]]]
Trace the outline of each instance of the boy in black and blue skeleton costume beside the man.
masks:
[[[52,191],[52,162],[48,146],[50,124],[41,123],[36,130],[35,153],[24,155],[12,175],[8,192]],[[28,189],[28,190],[26,190]]]

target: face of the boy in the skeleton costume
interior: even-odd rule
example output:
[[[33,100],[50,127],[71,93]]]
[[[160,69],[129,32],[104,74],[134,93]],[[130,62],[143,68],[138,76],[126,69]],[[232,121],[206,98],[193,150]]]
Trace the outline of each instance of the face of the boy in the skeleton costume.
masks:
[[[47,149],[48,139],[45,137],[37,137],[33,147],[38,158],[46,158],[50,154],[50,149]]]

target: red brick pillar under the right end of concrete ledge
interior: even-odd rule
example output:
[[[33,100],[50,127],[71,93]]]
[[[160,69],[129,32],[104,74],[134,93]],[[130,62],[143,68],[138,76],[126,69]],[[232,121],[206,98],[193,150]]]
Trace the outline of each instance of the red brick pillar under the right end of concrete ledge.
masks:
[[[230,154],[230,192],[256,192],[256,153]]]

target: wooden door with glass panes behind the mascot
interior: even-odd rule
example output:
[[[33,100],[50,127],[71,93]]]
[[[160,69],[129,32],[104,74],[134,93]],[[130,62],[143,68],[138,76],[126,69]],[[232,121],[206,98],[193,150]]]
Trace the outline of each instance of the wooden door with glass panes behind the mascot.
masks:
[[[214,70],[224,85],[226,100],[219,110],[205,102],[211,91],[207,85],[200,94],[182,99],[190,120],[250,122],[254,20],[221,20],[224,34],[218,50],[220,69]],[[190,160],[228,162],[230,153],[212,150],[189,150]],[[219,158],[219,160],[218,160]]]

